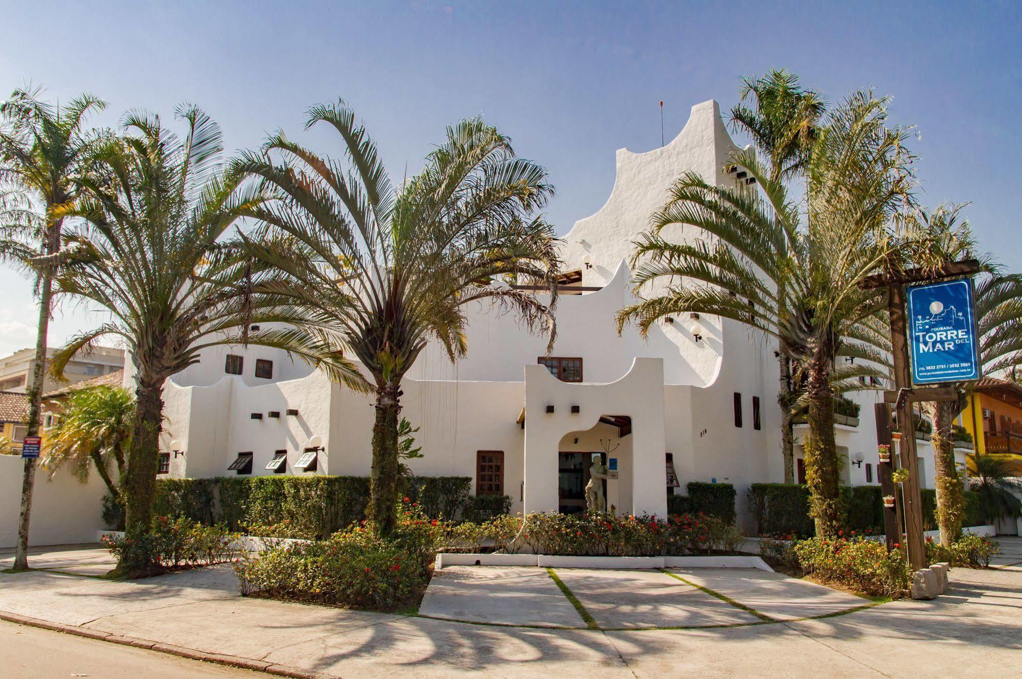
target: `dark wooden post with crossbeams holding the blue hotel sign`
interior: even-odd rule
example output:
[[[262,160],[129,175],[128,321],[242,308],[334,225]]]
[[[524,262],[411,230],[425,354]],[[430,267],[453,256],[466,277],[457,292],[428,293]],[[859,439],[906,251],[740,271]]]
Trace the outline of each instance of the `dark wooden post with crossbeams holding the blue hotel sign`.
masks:
[[[912,366],[909,362],[909,331],[905,327],[904,286],[907,283],[939,281],[957,276],[969,276],[979,271],[975,259],[956,261],[937,271],[919,269],[891,271],[871,276],[862,283],[867,290],[887,289],[887,313],[891,330],[891,358],[894,365],[894,391],[885,394],[885,400],[894,402],[894,411],[901,438],[898,457],[909,478],[901,483],[904,499],[904,543],[909,565],[913,571],[926,568],[926,542],[923,537],[923,502],[919,492],[919,464],[916,457],[916,423],[912,419],[912,403],[939,401],[955,398],[950,387],[913,389]],[[878,423],[879,430],[879,423]],[[886,492],[886,491],[885,491]],[[896,497],[896,493],[895,493]],[[890,533],[888,532],[888,544]]]

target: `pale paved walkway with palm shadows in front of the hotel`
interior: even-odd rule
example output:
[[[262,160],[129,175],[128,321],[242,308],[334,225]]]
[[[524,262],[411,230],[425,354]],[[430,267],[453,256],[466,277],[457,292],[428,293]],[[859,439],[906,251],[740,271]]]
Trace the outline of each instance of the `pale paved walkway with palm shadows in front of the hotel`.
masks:
[[[1002,543],[1005,561],[1022,551],[1018,538]],[[64,568],[74,566],[65,563]],[[582,627],[582,614],[572,605],[572,619],[563,603],[566,597],[550,589],[549,583],[557,583],[544,570],[533,571],[547,580],[508,574],[548,604],[523,619],[546,625],[572,621]],[[462,576],[451,571],[449,578],[442,572],[431,594],[443,597],[444,587],[473,573],[478,571]],[[662,572],[622,571],[608,576],[612,587],[603,589],[596,586],[593,571],[555,573],[596,625],[669,620],[690,629],[493,626],[242,598],[233,573],[224,567],[135,582],[52,571],[0,575],[0,611],[76,625],[85,633],[122,642],[131,637],[156,648],[216,653],[250,667],[305,668],[360,678],[483,672],[558,679],[687,674],[757,679],[1002,677],[1018,672],[1022,651],[1018,564],[988,571],[956,569],[950,590],[934,601],[893,601],[812,620],[793,619],[843,607],[847,595],[826,590],[807,597],[800,588],[815,587],[808,583],[747,572],[675,571],[684,582]],[[472,577],[468,582],[490,592],[493,615],[505,616],[509,624],[521,619],[521,597],[498,584],[500,577]],[[743,578],[751,580],[743,584]],[[780,622],[736,605],[743,600],[760,616]],[[799,608],[806,601],[809,610]],[[424,614],[428,605],[424,599]],[[480,609],[460,610],[467,620]],[[728,626],[701,626],[713,621]],[[692,622],[700,627],[691,629]]]

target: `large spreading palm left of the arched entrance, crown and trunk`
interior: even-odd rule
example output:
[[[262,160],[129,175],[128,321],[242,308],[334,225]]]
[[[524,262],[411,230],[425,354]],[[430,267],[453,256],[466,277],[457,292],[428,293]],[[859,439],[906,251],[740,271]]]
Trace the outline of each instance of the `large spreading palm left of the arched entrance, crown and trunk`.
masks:
[[[354,355],[375,392],[371,512],[396,524],[401,382],[430,341],[465,355],[465,306],[492,301],[554,337],[557,239],[533,216],[553,194],[540,165],[478,118],[447,130],[417,176],[393,187],[376,146],[343,102],[314,106],[306,128],[341,137],[347,167],[287,139],[236,164],[280,195],[252,215],[264,224],[248,251],[278,272],[257,288],[287,297],[307,320],[260,341]],[[516,281],[532,284],[516,287]],[[541,282],[545,282],[541,285]],[[537,288],[549,289],[541,301]]]

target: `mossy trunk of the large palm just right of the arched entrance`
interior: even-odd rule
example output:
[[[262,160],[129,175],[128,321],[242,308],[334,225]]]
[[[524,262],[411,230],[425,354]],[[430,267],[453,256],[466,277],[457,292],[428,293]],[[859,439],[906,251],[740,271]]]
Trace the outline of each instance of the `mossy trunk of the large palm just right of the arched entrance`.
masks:
[[[809,514],[818,537],[837,533],[841,522],[838,504],[838,455],[834,439],[834,393],[830,386],[829,352],[809,361],[806,389],[809,396],[809,431],[803,445],[805,482],[809,488]]]

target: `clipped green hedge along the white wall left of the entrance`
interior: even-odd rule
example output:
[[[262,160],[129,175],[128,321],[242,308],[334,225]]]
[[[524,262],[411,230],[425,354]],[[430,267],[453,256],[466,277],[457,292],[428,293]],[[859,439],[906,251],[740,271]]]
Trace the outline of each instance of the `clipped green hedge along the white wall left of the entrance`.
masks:
[[[412,477],[403,490],[433,519],[456,518],[466,505],[475,516],[504,506],[503,500],[496,505],[471,500],[471,477]],[[369,479],[359,476],[158,479],[153,515],[222,524],[232,531],[273,529],[280,537],[325,539],[365,519],[368,501]]]

